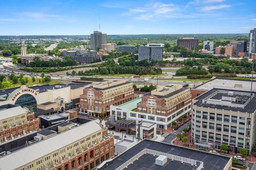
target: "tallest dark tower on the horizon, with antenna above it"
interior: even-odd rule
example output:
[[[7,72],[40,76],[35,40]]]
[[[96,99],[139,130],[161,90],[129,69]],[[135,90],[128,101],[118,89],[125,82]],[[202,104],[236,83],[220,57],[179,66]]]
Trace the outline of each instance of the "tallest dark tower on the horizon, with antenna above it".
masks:
[[[91,33],[91,48],[96,50],[98,47],[101,49],[103,44],[107,44],[107,34],[100,31],[93,31]]]

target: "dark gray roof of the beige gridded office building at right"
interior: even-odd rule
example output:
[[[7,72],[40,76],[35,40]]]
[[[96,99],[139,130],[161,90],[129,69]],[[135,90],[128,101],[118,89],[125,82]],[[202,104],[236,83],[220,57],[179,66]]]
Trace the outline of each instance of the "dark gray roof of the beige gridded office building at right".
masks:
[[[225,110],[225,111],[233,111],[233,112],[242,112],[242,113],[245,113],[245,112],[247,112],[247,113],[254,113],[255,111],[256,111],[256,105],[255,105],[255,103],[256,103],[256,97],[253,97],[252,98],[252,101],[250,101],[251,102],[251,105],[250,105],[250,103],[249,104],[247,104],[244,108],[239,108],[239,107],[230,107],[230,106],[221,106],[221,105],[214,105],[214,104],[204,104],[203,102],[202,102],[202,100],[204,99],[204,98],[206,98],[207,96],[209,96],[209,95],[211,95],[211,94],[213,94],[215,91],[218,91],[218,90],[225,90],[225,91],[239,91],[239,92],[249,92],[250,93],[250,91],[240,91],[240,90],[230,90],[230,89],[211,89],[211,90],[209,90],[209,91],[207,91],[207,92],[205,92],[204,94],[202,94],[202,95],[200,95],[200,96],[198,96],[198,97],[196,97],[194,100],[198,100],[196,103],[194,103],[194,105],[195,106],[198,106],[198,107],[205,107],[205,108],[208,108],[208,107],[210,107],[210,108],[212,108],[212,109],[220,109],[220,110]],[[256,96],[256,92],[254,92],[254,91],[252,91],[252,93]],[[213,97],[213,99],[217,99],[217,97],[219,97],[219,96],[222,96],[221,94],[217,94],[217,95],[215,95],[214,97]],[[249,96],[250,97],[250,96]],[[250,106],[251,106],[251,108],[250,108]]]

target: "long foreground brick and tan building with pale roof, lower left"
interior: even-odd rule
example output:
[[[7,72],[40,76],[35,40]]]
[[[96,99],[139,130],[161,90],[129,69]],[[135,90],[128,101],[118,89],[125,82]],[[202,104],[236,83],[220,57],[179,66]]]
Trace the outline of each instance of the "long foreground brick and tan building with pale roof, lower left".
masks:
[[[0,169],[90,170],[114,157],[114,137],[108,135],[107,129],[95,121],[70,125],[59,125],[59,132],[37,133],[41,141],[0,157]]]

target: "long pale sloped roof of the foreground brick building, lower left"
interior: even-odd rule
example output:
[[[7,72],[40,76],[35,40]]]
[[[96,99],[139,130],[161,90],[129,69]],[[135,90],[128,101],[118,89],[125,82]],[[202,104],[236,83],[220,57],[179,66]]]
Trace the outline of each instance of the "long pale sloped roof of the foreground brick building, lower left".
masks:
[[[17,169],[100,130],[99,124],[95,121],[85,123],[0,158],[0,169]]]

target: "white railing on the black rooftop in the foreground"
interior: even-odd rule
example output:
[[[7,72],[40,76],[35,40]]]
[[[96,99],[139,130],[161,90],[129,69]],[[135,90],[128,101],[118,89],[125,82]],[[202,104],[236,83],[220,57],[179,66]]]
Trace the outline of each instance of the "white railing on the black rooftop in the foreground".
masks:
[[[177,156],[177,155],[167,154],[167,153],[161,152],[161,151],[156,151],[156,150],[151,150],[151,149],[143,149],[137,155],[135,155],[131,159],[127,160],[124,164],[122,164],[115,170],[122,170],[122,169],[126,168],[128,165],[132,164],[135,160],[139,159],[144,154],[151,154],[151,155],[157,155],[157,156],[164,155],[171,160],[177,160],[181,163],[187,163],[192,166],[196,166],[196,163],[199,162],[200,165],[197,167],[197,170],[201,170],[203,168],[203,162],[201,162],[201,161],[197,161],[194,159],[189,159],[189,158],[185,158],[185,157],[181,157],[181,156]]]

